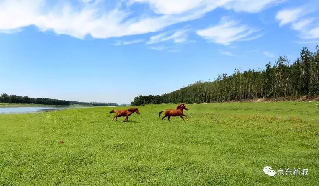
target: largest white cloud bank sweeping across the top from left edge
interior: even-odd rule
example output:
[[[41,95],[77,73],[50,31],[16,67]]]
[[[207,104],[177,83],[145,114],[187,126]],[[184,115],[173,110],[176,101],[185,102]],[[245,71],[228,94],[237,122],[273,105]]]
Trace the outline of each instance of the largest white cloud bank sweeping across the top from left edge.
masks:
[[[258,12],[279,0],[106,0],[0,1],[0,31],[11,33],[34,25],[42,32],[70,35],[83,39],[110,38],[158,32],[169,25],[195,20],[218,7],[235,11]],[[153,14],[138,14],[132,4],[147,3]]]

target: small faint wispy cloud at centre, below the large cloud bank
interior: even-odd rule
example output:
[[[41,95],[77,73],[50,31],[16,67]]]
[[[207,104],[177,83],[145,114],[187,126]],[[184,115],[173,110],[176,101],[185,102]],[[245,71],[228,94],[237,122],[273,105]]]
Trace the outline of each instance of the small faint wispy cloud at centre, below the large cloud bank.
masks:
[[[182,43],[187,41],[188,32],[189,30],[178,30],[171,35],[166,33],[160,33],[158,35],[152,36],[149,41],[147,41],[147,44],[154,44],[159,42],[164,42],[168,40],[173,40],[174,43]]]

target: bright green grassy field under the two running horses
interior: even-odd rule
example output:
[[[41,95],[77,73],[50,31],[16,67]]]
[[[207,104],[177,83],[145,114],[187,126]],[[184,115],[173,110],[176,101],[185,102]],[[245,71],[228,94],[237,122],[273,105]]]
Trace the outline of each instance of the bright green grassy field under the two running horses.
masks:
[[[319,185],[319,102],[187,106],[186,123],[161,122],[172,104],[0,115],[0,185]]]

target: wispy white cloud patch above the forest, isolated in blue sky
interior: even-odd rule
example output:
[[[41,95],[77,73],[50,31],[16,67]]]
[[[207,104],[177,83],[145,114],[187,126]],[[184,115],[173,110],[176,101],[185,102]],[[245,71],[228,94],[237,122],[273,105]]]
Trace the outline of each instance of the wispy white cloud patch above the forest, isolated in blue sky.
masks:
[[[241,25],[239,21],[223,17],[218,25],[211,26],[203,30],[197,30],[196,33],[208,40],[208,42],[229,45],[234,41],[257,39],[263,35],[256,34],[258,31],[258,28]]]

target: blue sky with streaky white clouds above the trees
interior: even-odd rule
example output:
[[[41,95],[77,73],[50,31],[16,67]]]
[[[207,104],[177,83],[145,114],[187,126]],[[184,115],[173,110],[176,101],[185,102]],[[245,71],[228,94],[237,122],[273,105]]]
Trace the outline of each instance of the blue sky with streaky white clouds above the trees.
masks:
[[[198,80],[293,62],[319,44],[319,3],[0,0],[0,92],[130,103]]]

